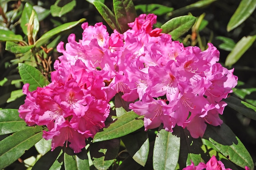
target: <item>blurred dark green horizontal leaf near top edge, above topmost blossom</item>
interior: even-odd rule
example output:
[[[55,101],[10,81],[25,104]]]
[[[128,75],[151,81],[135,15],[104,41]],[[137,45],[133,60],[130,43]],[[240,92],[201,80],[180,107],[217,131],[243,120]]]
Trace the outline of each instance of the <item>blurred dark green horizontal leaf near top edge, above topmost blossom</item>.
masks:
[[[173,8],[161,4],[139,4],[135,6],[135,9],[141,10],[142,13],[154,13],[157,16],[173,11]]]

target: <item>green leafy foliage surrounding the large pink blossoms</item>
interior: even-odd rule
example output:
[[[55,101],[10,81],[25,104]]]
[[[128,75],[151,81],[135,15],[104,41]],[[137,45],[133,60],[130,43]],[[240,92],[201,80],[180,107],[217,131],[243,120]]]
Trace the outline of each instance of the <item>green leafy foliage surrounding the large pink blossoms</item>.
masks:
[[[102,0],[0,2],[0,169],[22,165],[32,170],[175,170],[189,166],[190,160],[197,165],[215,155],[226,168],[248,166],[254,170],[256,60],[251,56],[256,39],[256,1],[242,0],[238,4],[199,0],[186,5],[164,0],[159,4],[131,0],[113,0],[112,4]],[[211,10],[213,7],[220,13]],[[82,152],[76,154],[65,146],[51,151],[51,141],[42,139],[42,131],[47,128],[28,127],[18,116],[17,109],[25,99],[22,85],[29,83],[33,91],[50,83],[52,63],[59,55],[54,50],[56,45],[70,32],[76,32],[83,18],[92,25],[106,22],[108,30],[124,33],[129,29],[127,23],[140,13],[159,15],[155,27],[184,45],[198,45],[202,50],[207,49],[207,42],[219,45],[220,62],[234,67],[240,80],[234,93],[225,99],[230,107],[222,116],[225,123],[220,127],[207,125],[199,139],[180,127],[175,127],[173,133],[162,127],[145,132],[143,116],[128,110],[129,103],[117,94],[107,119],[109,125],[88,139]]]

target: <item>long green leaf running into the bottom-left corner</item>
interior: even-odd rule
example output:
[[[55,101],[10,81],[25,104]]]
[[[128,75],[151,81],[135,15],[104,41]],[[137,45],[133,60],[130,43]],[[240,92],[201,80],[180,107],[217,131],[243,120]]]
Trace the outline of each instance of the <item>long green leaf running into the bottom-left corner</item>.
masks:
[[[29,127],[0,141],[0,169],[16,161],[26,150],[42,139],[42,130],[41,126]]]

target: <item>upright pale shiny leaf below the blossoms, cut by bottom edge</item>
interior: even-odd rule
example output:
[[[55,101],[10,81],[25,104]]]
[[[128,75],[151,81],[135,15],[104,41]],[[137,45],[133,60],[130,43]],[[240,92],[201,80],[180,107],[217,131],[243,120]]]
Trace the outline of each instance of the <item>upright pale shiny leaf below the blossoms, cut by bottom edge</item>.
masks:
[[[180,137],[162,129],[157,133],[153,150],[154,170],[175,170],[180,154]]]

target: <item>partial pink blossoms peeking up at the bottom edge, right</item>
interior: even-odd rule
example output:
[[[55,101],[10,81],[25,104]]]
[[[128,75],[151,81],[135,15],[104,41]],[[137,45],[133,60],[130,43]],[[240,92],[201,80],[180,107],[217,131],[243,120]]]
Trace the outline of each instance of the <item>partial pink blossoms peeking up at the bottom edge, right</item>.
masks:
[[[249,170],[248,167],[246,168],[247,168],[246,170]],[[206,164],[203,162],[200,162],[198,166],[195,166],[194,163],[191,161],[191,166],[187,166],[182,170],[231,170],[231,169],[225,168],[222,161],[218,161],[216,157],[213,155]]]

